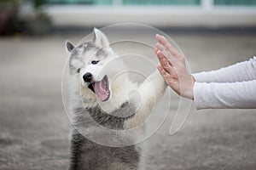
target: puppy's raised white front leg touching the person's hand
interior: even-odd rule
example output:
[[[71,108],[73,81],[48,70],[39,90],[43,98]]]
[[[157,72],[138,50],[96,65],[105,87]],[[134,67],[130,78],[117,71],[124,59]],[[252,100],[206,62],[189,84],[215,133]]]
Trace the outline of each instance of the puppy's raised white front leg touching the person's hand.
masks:
[[[167,84],[158,70],[154,71],[138,88],[140,101],[135,116],[125,122],[127,128],[137,127],[151,114],[156,102],[165,93]]]

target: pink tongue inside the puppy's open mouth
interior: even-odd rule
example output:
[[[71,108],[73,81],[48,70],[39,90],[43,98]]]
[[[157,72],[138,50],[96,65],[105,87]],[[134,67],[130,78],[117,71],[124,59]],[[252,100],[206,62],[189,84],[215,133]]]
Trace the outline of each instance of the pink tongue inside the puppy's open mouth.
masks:
[[[101,82],[94,83],[94,90],[95,90],[96,96],[102,101],[105,101],[106,99],[108,99],[108,90],[107,90],[105,78],[103,78]]]

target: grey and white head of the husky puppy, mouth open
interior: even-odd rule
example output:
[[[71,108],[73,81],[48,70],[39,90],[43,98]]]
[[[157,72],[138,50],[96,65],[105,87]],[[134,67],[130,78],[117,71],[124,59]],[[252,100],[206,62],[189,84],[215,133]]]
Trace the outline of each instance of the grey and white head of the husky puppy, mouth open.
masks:
[[[83,96],[107,101],[111,96],[109,61],[115,55],[102,31],[95,28],[93,35],[91,42],[84,42],[78,47],[66,42],[66,49],[70,54],[70,76],[77,80],[71,83],[77,83]]]

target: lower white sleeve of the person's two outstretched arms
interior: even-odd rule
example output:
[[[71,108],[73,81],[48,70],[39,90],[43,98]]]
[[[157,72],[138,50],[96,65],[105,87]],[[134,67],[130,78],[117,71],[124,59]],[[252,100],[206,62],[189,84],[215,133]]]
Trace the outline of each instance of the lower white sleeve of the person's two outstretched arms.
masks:
[[[255,109],[256,80],[232,83],[195,82],[197,109]]]

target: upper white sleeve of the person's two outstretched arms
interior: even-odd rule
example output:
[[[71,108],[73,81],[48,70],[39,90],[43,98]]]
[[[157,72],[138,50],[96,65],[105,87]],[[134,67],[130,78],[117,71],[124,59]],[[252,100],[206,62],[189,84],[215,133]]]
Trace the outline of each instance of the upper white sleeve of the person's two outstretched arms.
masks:
[[[217,71],[193,74],[195,82],[242,82],[256,80],[256,57]]]

